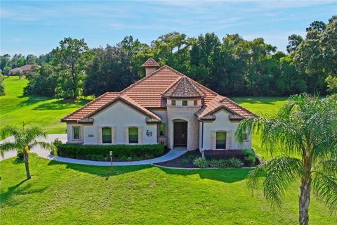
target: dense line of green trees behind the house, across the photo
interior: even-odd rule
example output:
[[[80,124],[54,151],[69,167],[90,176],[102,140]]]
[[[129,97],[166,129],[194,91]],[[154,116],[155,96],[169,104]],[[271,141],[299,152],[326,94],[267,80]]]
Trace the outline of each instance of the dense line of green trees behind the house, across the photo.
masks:
[[[84,39],[65,38],[46,55],[1,56],[0,69],[37,63],[27,74],[25,94],[62,98],[121,91],[145,76],[141,65],[152,57],[225,96],[326,94],[327,77],[337,75],[337,17],[314,21],[305,37],[289,36],[287,53],[263,38],[239,34],[220,39],[214,33],[187,37],[164,34],[150,45],[132,36],[114,46],[89,49]]]

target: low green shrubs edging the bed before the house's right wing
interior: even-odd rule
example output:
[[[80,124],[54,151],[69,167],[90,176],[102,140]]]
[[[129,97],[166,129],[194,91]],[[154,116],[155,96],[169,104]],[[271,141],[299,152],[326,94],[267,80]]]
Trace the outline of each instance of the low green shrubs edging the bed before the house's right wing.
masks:
[[[199,168],[239,168],[242,167],[244,163],[238,158],[230,158],[229,160],[206,160],[200,157],[193,161],[193,165]]]

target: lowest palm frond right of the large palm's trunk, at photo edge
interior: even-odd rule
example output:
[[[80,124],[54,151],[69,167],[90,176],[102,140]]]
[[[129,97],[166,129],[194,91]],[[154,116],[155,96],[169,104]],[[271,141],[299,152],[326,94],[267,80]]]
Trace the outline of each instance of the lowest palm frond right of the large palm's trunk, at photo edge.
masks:
[[[315,172],[312,174],[314,193],[324,200],[331,214],[337,213],[337,176]]]

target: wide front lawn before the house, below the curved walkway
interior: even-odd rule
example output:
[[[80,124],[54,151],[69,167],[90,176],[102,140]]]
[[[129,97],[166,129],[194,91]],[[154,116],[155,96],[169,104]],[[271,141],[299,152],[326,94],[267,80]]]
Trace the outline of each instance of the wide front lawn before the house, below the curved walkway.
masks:
[[[0,162],[1,224],[296,224],[298,184],[272,208],[246,188],[249,169],[93,167],[30,158]],[[312,198],[310,224],[335,224]]]

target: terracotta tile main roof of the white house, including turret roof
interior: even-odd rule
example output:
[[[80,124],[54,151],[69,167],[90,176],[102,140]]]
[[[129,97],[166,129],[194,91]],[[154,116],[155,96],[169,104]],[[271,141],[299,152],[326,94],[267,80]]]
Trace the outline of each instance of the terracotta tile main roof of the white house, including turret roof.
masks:
[[[163,94],[174,97],[191,96],[203,98],[204,106],[197,112],[199,119],[212,119],[214,117],[212,114],[221,108],[230,111],[233,114],[233,118],[235,117],[236,119],[254,115],[229,98],[216,94],[216,92],[211,91],[206,86],[164,65],[121,92],[107,92],[99,96],[79,108],[79,110],[64,117],[61,122],[90,122],[91,115],[118,100],[124,101],[142,113],[145,113],[151,117],[151,121],[160,121],[161,118],[152,113],[149,108],[166,107]]]

